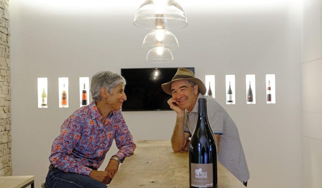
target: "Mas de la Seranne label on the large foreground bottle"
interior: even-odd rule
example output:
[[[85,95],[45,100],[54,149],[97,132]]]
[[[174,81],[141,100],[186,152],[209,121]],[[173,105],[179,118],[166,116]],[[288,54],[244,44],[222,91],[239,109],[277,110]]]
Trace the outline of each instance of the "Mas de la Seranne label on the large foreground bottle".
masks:
[[[191,163],[191,186],[213,187],[213,164]]]

